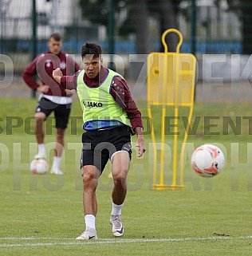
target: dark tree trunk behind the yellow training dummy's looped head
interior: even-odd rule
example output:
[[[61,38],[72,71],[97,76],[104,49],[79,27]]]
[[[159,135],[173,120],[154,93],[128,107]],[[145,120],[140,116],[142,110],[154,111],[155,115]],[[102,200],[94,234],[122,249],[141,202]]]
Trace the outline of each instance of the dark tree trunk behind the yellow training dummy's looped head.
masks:
[[[175,14],[176,7],[172,0],[157,0],[159,6],[159,22],[160,22],[160,36],[168,29],[177,29],[178,22]],[[176,46],[179,42],[179,37],[175,33],[171,33],[166,37],[166,42],[169,52],[175,52]],[[163,45],[161,45],[160,52],[163,52]]]

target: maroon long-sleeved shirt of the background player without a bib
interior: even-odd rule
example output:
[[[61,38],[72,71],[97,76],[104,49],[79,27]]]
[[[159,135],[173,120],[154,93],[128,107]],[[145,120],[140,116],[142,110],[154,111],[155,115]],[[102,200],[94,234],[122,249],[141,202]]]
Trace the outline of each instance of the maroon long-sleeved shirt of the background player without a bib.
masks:
[[[53,79],[53,70],[57,68],[61,69],[64,76],[72,76],[80,69],[79,65],[68,54],[60,52],[55,55],[48,51],[36,57],[22,73],[22,77],[31,89],[36,90],[39,85],[33,76],[37,74],[43,85],[49,85],[49,92],[44,94],[66,96],[65,89]]]

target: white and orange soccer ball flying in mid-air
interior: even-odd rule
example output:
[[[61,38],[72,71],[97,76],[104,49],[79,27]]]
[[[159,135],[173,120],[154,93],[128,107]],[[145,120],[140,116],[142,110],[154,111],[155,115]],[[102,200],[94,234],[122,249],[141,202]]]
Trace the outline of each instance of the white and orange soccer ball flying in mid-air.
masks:
[[[196,148],[192,154],[191,166],[199,175],[211,178],[218,175],[225,167],[225,156],[215,145],[204,144]]]

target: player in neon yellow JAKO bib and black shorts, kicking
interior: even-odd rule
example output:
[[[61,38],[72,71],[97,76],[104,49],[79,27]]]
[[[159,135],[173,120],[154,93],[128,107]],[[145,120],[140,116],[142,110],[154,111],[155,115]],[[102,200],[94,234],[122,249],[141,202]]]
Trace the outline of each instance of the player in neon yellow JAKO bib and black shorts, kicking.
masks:
[[[72,77],[60,69],[53,78],[63,88],[76,89],[83,110],[81,175],[85,231],[77,239],[96,239],[96,187],[108,160],[112,163],[112,234],[120,237],[124,226],[120,215],[127,193],[126,178],[132,156],[131,136],[136,133],[138,156],[145,152],[141,113],[124,77],[103,65],[100,45],[86,43],[81,48],[84,69]]]

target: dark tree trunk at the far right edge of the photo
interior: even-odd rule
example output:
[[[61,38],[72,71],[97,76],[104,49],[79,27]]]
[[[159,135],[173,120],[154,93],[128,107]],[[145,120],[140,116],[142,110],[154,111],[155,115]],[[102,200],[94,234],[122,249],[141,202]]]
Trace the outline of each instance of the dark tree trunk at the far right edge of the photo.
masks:
[[[242,1],[242,53],[252,53],[252,2]]]

